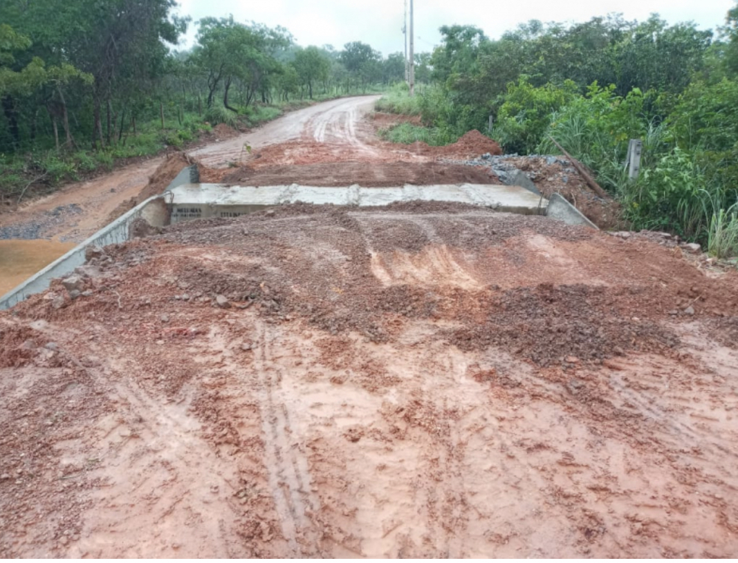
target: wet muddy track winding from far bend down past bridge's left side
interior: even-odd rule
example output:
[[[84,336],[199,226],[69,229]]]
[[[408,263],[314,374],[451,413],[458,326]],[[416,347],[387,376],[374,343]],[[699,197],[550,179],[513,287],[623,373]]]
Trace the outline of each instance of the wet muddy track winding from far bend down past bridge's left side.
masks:
[[[371,154],[365,142],[357,136],[359,122],[370,111],[378,96],[337,99],[294,111],[273,122],[238,135],[226,141],[215,141],[188,154],[204,165],[217,171],[230,163],[248,156],[244,144],[252,150],[261,150],[270,144],[308,139],[312,144],[325,147],[353,147],[355,155]],[[373,132],[360,129],[365,136]],[[37,245],[21,242],[24,251],[35,256],[46,256],[41,267],[61,256],[68,249],[66,243],[79,243],[109,223],[111,215],[129,208],[128,202],[136,200],[146,189],[149,179],[165,164],[165,157],[151,158],[129,167],[124,167],[92,181],[72,183],[46,197],[31,200],[17,211],[0,214],[0,240],[39,239]],[[218,172],[211,172],[211,175]],[[173,176],[172,176],[173,178]],[[166,186],[163,186],[166,187]],[[118,213],[120,214],[120,213]],[[56,251],[49,248],[49,240],[65,243]],[[9,262],[17,253],[0,246],[0,262]],[[12,289],[18,279],[21,282],[40,268],[38,259],[13,262],[13,271],[0,269],[0,287]],[[5,291],[0,290],[0,295]]]

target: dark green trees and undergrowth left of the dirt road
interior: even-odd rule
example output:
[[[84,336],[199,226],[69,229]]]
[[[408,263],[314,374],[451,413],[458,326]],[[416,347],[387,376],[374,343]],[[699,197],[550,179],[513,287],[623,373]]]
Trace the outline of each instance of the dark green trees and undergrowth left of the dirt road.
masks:
[[[296,100],[404,79],[400,53],[294,43],[229,18],[192,22],[173,0],[0,2],[0,199],[118,158],[182,147],[210,124],[272,119]],[[196,44],[177,52],[188,25]],[[428,71],[426,71],[428,74]],[[298,102],[299,103],[299,102]]]

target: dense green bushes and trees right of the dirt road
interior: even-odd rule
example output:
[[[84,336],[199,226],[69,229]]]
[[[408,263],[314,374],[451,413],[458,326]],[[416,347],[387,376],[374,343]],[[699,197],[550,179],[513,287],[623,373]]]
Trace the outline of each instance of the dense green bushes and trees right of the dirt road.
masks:
[[[624,203],[634,228],[738,253],[738,6],[717,32],[610,15],[530,21],[496,41],[470,26],[441,33],[432,87],[415,99],[396,88],[379,103],[423,119],[391,139],[444,144],[478,129],[531,154],[556,153],[553,137]],[[644,141],[638,181],[624,169],[630,139]]]

